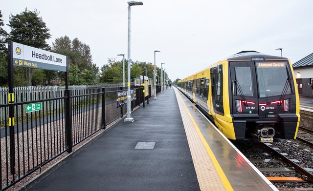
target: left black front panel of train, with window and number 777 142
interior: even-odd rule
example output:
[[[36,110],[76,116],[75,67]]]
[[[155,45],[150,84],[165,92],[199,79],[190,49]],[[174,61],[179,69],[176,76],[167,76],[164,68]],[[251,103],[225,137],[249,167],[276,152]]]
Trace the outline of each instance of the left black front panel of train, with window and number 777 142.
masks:
[[[253,61],[229,62],[233,116],[259,115],[256,71]]]

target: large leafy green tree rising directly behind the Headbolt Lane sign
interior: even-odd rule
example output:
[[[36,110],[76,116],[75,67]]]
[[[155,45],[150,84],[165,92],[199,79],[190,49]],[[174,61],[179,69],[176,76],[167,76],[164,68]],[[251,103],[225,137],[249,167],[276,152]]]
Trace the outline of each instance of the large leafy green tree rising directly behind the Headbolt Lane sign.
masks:
[[[8,40],[32,46],[39,49],[49,50],[46,39],[51,37],[45,22],[39,17],[40,12],[28,11],[27,8],[15,16],[11,14],[8,26],[11,27]],[[27,85],[32,85],[32,68],[25,68]]]

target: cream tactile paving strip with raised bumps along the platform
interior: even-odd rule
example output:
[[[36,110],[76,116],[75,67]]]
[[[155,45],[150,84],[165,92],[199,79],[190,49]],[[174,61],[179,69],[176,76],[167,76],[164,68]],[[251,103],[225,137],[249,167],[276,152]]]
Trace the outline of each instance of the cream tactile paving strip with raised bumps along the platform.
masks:
[[[178,90],[174,90],[201,191],[225,191],[224,183],[184,107]]]

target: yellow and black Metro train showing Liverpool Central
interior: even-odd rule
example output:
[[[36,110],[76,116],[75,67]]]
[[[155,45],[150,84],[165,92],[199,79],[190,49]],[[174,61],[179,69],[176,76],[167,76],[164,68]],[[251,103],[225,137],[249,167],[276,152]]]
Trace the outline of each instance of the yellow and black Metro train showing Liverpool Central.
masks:
[[[297,136],[299,95],[286,57],[242,51],[180,79],[177,87],[228,139]]]

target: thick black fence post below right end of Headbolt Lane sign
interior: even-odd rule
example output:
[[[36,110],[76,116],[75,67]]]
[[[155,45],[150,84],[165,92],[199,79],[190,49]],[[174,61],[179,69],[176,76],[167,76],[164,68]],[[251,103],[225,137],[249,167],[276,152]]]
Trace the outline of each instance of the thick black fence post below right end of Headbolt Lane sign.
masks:
[[[67,153],[72,152],[72,117],[71,117],[71,103],[70,103],[70,90],[65,90],[65,133],[67,137]]]

